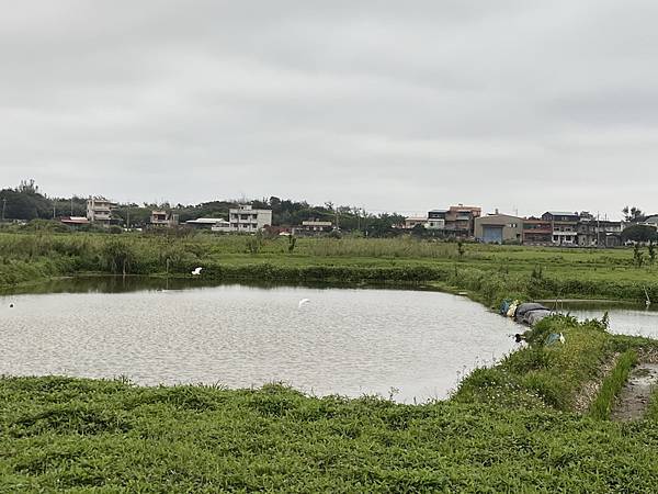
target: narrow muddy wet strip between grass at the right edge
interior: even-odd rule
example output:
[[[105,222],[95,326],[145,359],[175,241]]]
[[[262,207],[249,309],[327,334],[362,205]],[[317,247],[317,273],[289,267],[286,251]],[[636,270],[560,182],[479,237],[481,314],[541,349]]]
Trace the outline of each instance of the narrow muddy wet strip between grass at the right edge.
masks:
[[[640,363],[631,371],[628,382],[622,389],[610,418],[619,422],[642,418],[656,389],[658,389],[658,363]]]

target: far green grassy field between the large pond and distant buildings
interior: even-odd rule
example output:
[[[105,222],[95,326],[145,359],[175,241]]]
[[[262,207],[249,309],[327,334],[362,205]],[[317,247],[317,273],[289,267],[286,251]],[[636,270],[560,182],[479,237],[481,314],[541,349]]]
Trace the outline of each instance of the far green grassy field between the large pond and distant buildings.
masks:
[[[555,249],[394,239],[147,234],[0,233],[0,288],[56,276],[114,273],[222,280],[423,283],[466,290],[488,305],[503,296],[658,300],[658,269],[627,249]]]

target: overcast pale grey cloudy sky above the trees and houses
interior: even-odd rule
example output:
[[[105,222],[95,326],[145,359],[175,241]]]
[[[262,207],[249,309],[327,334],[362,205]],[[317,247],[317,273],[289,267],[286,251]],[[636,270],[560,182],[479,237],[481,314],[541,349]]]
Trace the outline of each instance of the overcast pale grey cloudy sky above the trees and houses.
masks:
[[[0,7],[0,187],[658,211],[654,0]]]

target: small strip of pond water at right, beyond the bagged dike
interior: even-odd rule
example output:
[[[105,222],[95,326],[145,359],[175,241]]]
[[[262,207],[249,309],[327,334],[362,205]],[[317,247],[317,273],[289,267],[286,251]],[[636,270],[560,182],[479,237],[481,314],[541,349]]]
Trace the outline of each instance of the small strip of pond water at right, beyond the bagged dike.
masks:
[[[569,302],[558,310],[579,319],[601,319],[608,312],[611,333],[658,338],[658,304],[647,308],[644,304],[623,302]]]

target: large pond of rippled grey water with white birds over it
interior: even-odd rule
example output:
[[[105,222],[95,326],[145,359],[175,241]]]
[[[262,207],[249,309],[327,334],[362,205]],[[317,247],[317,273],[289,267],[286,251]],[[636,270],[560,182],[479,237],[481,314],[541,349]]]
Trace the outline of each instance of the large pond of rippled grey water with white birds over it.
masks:
[[[519,326],[431,291],[60,281],[0,295],[0,373],[445,398]],[[309,302],[299,305],[308,299]],[[10,307],[13,304],[13,307]]]

